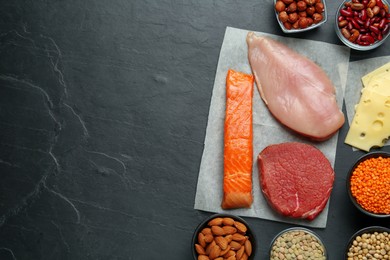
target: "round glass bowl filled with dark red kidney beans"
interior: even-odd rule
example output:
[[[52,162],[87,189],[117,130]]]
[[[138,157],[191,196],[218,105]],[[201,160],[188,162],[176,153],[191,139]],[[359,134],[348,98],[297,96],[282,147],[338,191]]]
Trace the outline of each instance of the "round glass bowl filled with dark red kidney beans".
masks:
[[[335,27],[346,46],[375,49],[389,36],[389,4],[386,0],[345,0],[337,10]]]

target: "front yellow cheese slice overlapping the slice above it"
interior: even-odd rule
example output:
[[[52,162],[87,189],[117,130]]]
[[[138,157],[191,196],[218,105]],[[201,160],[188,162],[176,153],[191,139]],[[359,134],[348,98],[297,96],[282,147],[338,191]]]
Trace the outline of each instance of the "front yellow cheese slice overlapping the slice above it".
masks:
[[[364,151],[382,147],[390,136],[390,96],[365,89],[345,143]]]

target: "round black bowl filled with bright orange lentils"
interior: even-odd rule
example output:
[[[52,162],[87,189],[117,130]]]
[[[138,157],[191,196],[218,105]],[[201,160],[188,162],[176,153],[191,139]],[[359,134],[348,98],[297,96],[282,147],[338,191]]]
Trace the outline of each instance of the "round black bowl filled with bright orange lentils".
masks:
[[[390,153],[370,152],[361,156],[346,178],[351,202],[364,214],[390,217]]]

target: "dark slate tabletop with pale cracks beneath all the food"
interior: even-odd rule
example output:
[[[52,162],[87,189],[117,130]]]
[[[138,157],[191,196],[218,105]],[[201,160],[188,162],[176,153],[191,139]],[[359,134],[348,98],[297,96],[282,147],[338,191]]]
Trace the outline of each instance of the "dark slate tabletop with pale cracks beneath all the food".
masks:
[[[289,37],[341,44],[328,22]],[[226,26],[282,35],[272,1],[1,1],[0,259],[191,259],[195,189]],[[390,55],[390,41],[351,60]],[[348,201],[341,131],[324,239],[389,226]],[[384,148],[381,150],[389,150]],[[267,259],[291,225],[246,218]]]

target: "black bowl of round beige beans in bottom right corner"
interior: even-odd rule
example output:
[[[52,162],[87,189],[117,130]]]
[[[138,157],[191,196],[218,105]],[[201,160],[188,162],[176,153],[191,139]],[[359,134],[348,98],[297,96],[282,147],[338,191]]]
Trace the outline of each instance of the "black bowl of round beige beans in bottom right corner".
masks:
[[[390,229],[371,226],[357,231],[347,243],[344,259],[390,259]]]

